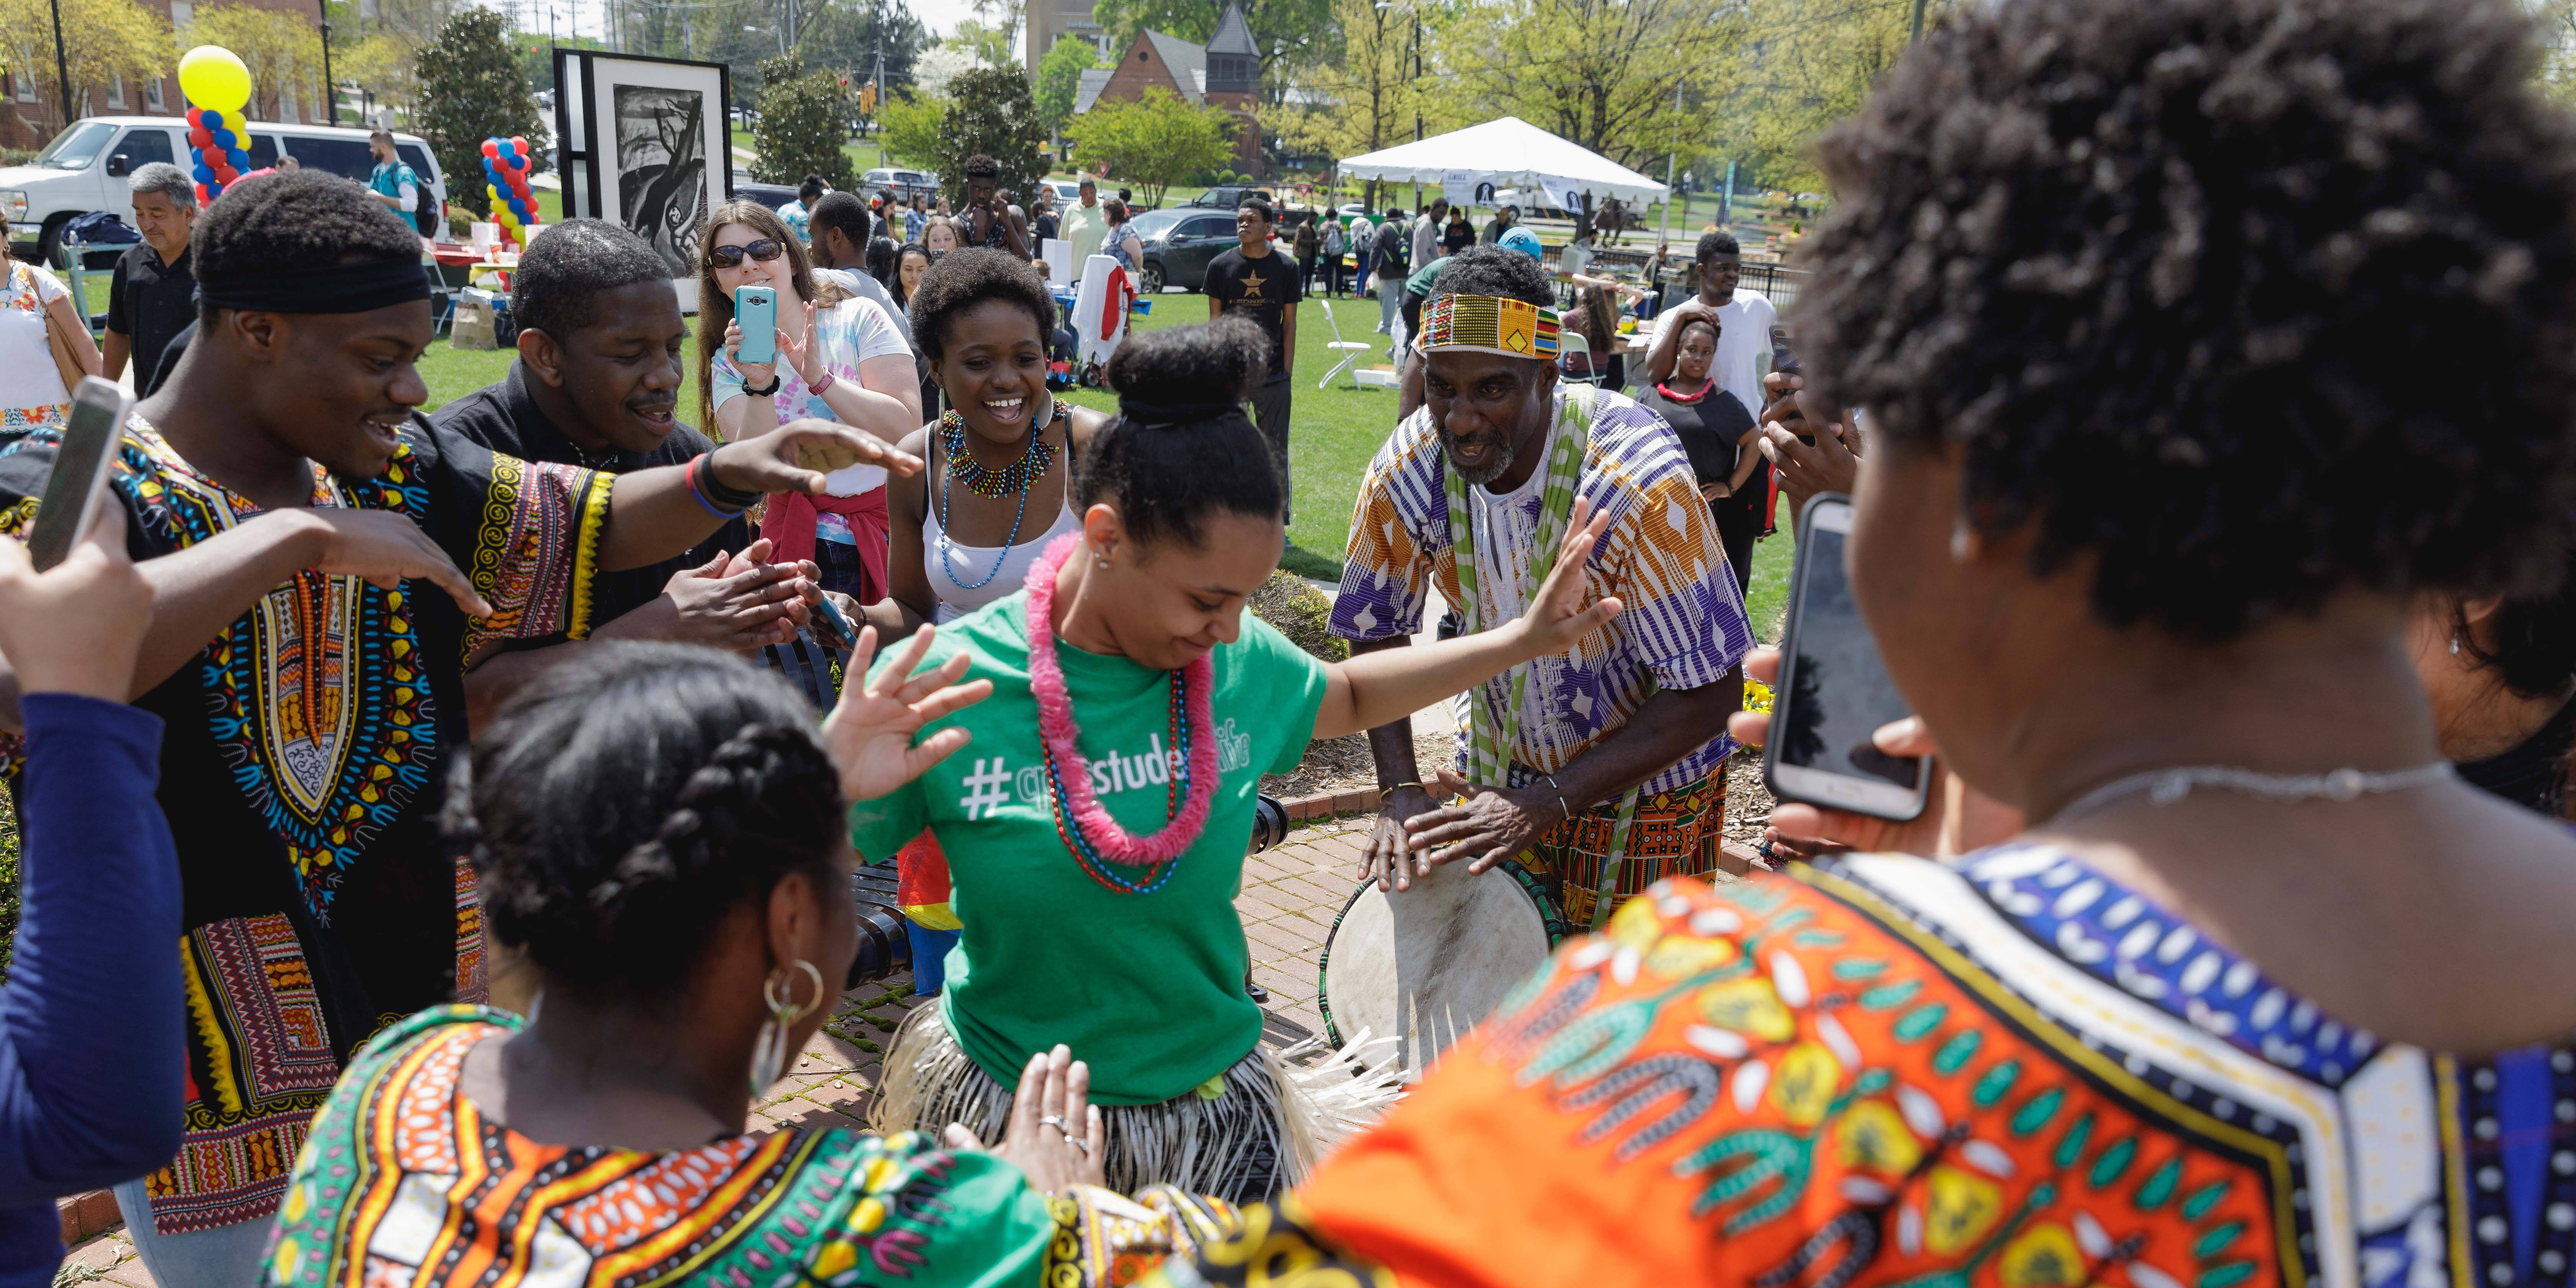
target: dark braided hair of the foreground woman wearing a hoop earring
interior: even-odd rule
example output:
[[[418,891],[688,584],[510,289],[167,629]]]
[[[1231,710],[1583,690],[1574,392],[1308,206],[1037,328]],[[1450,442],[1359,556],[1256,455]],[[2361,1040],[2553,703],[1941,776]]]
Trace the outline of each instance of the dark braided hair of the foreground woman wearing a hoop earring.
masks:
[[[840,775],[775,675],[693,644],[600,641],[474,739],[448,837],[484,917],[549,987],[667,997],[716,925],[788,873],[832,878]]]

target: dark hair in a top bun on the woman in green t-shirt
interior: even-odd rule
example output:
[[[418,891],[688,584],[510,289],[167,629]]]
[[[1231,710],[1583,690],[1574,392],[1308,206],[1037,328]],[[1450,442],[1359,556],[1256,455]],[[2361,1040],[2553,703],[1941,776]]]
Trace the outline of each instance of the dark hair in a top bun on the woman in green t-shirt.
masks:
[[[1110,500],[1136,541],[1190,546],[1218,510],[1280,518],[1288,489],[1270,440],[1244,415],[1262,371],[1270,337],[1239,314],[1128,335],[1108,366],[1118,420],[1082,453],[1074,507]]]

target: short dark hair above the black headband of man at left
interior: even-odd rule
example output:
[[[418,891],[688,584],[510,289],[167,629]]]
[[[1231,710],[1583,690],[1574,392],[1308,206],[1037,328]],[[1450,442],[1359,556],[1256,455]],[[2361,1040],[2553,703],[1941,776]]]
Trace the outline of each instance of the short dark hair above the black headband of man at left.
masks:
[[[420,232],[366,188],[322,170],[234,183],[188,232],[188,263],[198,281],[381,260],[420,263]],[[216,312],[214,304],[196,307],[206,327],[214,327]]]

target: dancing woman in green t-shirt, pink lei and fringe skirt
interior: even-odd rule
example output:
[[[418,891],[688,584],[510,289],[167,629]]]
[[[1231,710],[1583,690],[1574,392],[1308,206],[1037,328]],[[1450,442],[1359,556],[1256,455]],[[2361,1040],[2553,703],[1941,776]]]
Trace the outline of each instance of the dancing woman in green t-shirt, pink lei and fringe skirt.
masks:
[[[994,696],[933,729],[974,739],[853,806],[889,855],[925,827],[966,925],[948,989],[896,1033],[876,1123],[994,1131],[1010,1079],[1066,1043],[1108,1108],[1108,1182],[1255,1200],[1314,1154],[1303,1105],[1260,1051],[1234,914],[1255,783],[1355,734],[1569,652],[1618,613],[1584,600],[1600,526],[1577,513],[1533,611],[1497,631],[1324,665],[1244,616],[1285,546],[1285,487],[1242,402],[1267,340],[1218,319],[1128,337],[1121,417],[1074,477],[1082,531],[1025,590],[940,626]]]

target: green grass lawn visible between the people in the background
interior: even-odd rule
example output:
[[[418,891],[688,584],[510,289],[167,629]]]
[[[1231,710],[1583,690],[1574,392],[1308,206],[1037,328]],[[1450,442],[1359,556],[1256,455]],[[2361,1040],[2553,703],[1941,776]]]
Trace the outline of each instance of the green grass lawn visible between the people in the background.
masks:
[[[1332,301],[1332,314],[1342,325],[1342,337],[1370,340],[1376,355],[1363,355],[1360,366],[1386,361],[1386,337],[1373,335],[1378,325],[1376,301]],[[1136,319],[1136,330],[1180,327],[1208,319],[1208,296],[1170,291],[1154,299],[1154,312]],[[1288,526],[1288,554],[1280,567],[1303,577],[1337,580],[1342,551],[1350,544],[1350,510],[1360,495],[1360,477],[1378,443],[1396,428],[1394,389],[1352,389],[1352,379],[1337,376],[1329,389],[1314,381],[1332,366],[1332,327],[1324,322],[1324,301],[1309,299],[1298,307],[1296,327],[1296,407],[1288,433],[1288,474],[1296,489],[1296,523]],[[510,371],[510,350],[474,353],[446,340],[430,345],[420,361],[420,376],[430,386],[430,410],[471,394]],[[1115,410],[1118,399],[1097,389],[1074,389],[1069,402],[1097,410]],[[696,374],[680,386],[680,417],[696,422]],[[1785,515],[1785,513],[1783,513]],[[1790,536],[1780,536],[1754,549],[1754,585],[1747,592],[1747,611],[1754,631],[1772,639],[1780,605],[1788,595]]]

